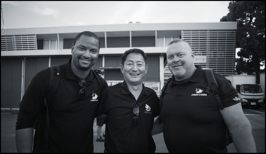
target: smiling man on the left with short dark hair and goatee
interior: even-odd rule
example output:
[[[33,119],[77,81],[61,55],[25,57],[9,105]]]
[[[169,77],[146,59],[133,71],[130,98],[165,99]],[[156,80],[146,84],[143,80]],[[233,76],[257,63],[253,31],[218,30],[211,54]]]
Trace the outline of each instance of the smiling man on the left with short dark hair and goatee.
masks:
[[[56,92],[51,94],[48,118],[45,100],[50,91],[50,70],[44,69],[32,78],[20,103],[16,123],[18,152],[32,152],[32,127],[40,115],[33,152],[93,153],[93,123],[98,97],[102,88],[108,86],[91,69],[99,50],[100,40],[94,33],[83,31],[76,36],[71,48],[72,58],[59,66],[60,72],[57,69],[54,75],[51,74],[53,78],[60,76],[60,80]],[[99,86],[98,79],[103,87]]]

